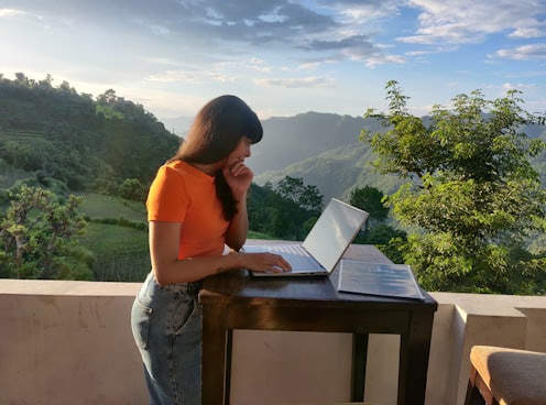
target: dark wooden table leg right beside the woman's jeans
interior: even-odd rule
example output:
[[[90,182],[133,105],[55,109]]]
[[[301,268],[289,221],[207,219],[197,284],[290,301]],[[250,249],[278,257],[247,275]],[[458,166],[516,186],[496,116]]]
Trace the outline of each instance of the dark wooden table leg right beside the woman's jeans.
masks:
[[[203,405],[229,404],[229,372],[231,355],[231,331],[226,329],[225,308],[203,306]]]

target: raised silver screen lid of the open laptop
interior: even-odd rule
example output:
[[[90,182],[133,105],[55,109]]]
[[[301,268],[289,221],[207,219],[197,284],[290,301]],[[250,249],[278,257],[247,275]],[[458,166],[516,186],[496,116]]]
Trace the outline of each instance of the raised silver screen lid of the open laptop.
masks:
[[[331,272],[367,219],[368,212],[332,198],[302,245]]]

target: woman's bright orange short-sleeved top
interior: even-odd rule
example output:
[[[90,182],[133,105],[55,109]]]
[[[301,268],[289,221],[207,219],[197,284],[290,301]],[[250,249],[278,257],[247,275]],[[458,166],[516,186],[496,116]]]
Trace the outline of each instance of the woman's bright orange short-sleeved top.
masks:
[[[165,164],[150,187],[146,208],[149,221],[183,222],[179,260],[222,254],[229,222],[215,177],[185,162]]]

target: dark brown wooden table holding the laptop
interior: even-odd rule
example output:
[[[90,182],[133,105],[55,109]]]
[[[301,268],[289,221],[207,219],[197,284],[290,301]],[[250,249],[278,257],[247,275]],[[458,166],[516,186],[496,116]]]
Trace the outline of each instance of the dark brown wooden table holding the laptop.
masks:
[[[345,258],[389,262],[372,245],[352,244]],[[364,396],[368,333],[400,335],[397,403],[424,404],[437,303],[426,293],[424,302],[339,293],[336,277],[337,271],[330,277],[259,278],[241,270],[205,280],[203,404],[229,404],[233,329],[352,333],[356,402]]]

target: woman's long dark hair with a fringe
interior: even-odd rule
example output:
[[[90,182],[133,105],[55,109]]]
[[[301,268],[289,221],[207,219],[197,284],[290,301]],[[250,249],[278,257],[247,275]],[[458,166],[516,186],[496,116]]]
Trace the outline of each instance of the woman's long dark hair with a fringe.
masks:
[[[256,143],[262,135],[263,129],[258,116],[243,100],[230,95],[220,96],[200,109],[178,152],[168,162],[216,163],[228,157],[241,138],[245,136]],[[221,169],[216,173],[215,184],[223,217],[231,220],[237,214],[237,201]]]

